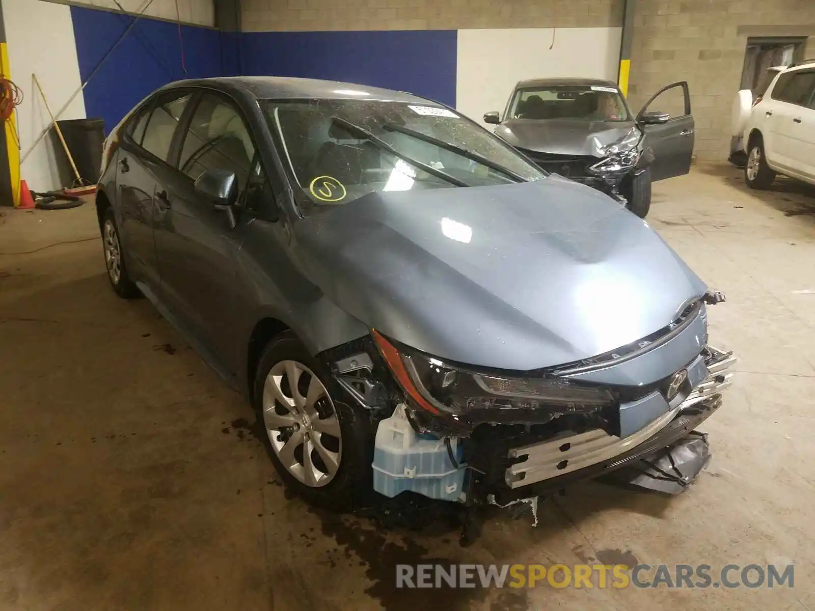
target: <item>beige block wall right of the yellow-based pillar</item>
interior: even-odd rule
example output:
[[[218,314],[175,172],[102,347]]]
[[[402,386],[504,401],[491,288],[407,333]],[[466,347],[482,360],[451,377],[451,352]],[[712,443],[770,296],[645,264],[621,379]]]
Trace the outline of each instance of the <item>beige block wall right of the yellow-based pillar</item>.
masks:
[[[632,110],[669,82],[688,81],[696,155],[725,160],[747,46],[744,30],[759,28],[762,36],[808,33],[806,56],[815,57],[815,0],[638,0],[628,95]]]

